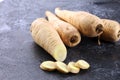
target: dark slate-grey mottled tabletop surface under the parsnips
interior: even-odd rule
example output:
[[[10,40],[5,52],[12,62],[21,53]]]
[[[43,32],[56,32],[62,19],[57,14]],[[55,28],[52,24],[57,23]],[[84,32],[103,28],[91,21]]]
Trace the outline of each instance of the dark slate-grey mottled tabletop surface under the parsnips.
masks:
[[[4,0],[0,2],[0,80],[120,80],[120,41],[102,41],[98,46],[96,39],[82,37],[78,46],[67,47],[65,63],[84,59],[91,64],[79,74],[39,68],[41,62],[54,59],[34,43],[30,24],[56,7],[120,22],[120,0]]]

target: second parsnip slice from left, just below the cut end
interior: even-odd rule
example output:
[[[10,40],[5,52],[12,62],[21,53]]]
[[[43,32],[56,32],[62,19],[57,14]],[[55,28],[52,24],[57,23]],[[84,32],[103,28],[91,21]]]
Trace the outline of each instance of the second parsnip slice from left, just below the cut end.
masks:
[[[69,70],[67,69],[67,65],[63,62],[57,61],[56,63],[56,69],[62,73],[68,73]]]

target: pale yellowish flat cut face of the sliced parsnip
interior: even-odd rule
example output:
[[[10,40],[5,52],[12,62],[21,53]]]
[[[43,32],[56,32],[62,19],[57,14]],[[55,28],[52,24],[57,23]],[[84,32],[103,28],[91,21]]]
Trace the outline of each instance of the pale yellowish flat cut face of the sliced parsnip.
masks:
[[[53,57],[57,61],[64,61],[67,57],[67,50],[63,45],[58,45],[54,49]]]

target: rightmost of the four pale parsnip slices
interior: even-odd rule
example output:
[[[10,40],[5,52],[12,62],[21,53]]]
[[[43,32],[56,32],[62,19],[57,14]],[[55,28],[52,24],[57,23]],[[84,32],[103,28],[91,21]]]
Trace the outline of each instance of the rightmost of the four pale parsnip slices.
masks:
[[[89,63],[87,63],[85,60],[78,60],[75,63],[75,66],[81,69],[88,69],[90,67]]]

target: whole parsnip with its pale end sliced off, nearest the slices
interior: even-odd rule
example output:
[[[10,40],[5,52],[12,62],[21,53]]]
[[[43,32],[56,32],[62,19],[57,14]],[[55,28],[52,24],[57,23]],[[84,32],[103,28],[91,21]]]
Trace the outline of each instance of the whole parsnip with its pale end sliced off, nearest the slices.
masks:
[[[67,50],[59,34],[44,18],[38,18],[31,24],[33,40],[45,49],[55,60],[64,61]]]

